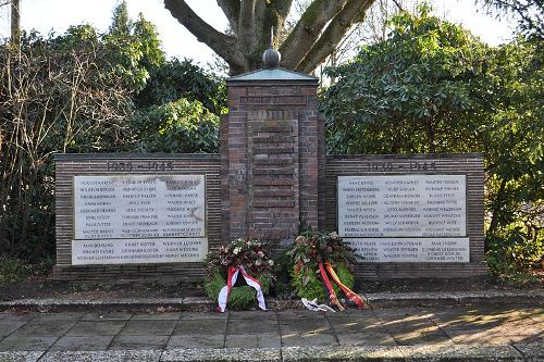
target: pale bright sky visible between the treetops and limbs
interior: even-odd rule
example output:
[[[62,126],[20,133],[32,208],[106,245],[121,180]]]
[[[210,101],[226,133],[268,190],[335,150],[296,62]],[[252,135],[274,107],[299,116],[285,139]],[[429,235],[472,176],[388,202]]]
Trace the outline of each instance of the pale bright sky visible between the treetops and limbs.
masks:
[[[215,0],[186,0],[193,10],[217,29],[226,28],[226,18]],[[4,1],[0,1],[3,3]],[[474,5],[474,0],[432,0],[436,14],[461,24],[490,45],[511,38],[511,21],[498,21]],[[62,34],[70,25],[89,23],[99,30],[108,29],[116,0],[21,0],[21,25],[41,34]],[[163,49],[169,57],[193,59],[201,65],[212,62],[212,50],[188,33],[164,9],[162,0],[127,0],[128,12],[144,17],[157,26]],[[9,7],[0,8],[0,38],[9,37]]]

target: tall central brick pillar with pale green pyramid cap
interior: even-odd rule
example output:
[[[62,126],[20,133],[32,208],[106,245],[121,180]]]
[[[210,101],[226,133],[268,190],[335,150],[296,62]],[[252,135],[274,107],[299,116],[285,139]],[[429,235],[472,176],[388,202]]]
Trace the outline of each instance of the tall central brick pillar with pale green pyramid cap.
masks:
[[[285,70],[227,79],[221,126],[223,241],[286,244],[301,224],[320,224],[324,174],[318,80]],[[321,217],[322,219],[322,217]]]

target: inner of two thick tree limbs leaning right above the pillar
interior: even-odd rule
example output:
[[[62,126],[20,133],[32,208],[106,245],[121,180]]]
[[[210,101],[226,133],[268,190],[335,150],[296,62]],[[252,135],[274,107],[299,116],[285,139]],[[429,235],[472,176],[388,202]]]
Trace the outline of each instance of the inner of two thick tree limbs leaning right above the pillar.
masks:
[[[294,70],[312,45],[319,39],[323,27],[346,4],[348,0],[313,0],[306,9],[297,25],[280,47],[285,67]],[[362,1],[362,0],[359,0]]]

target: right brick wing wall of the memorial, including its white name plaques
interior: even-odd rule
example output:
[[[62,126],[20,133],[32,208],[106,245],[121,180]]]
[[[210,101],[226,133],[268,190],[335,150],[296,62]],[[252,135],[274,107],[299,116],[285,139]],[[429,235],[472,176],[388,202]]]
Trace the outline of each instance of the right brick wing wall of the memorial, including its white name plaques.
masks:
[[[483,157],[329,157],[326,228],[359,258],[361,278],[485,273]]]

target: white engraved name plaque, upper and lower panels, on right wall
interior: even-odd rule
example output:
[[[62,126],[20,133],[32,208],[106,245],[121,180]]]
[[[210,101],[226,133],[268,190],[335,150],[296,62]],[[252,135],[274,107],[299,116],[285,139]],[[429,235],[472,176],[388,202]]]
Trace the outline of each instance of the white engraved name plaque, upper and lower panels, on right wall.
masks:
[[[465,175],[338,176],[338,234],[367,262],[469,262]]]

